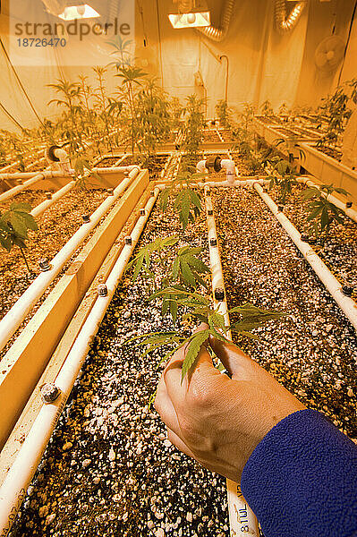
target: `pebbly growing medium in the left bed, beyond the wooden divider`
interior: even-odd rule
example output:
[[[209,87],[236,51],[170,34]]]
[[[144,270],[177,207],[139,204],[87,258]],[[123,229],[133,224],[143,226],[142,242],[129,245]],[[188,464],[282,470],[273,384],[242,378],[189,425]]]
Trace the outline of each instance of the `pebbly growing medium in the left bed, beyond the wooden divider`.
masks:
[[[19,248],[15,246],[10,253],[4,249],[0,251],[0,319],[38,276],[38,261],[45,257],[53,259],[82,225],[81,215],[87,212],[86,209],[94,212],[107,195],[103,190],[70,192],[37,218],[39,230],[29,233],[30,240],[25,251],[33,274],[28,273]],[[31,203],[40,196],[34,191],[21,192],[16,201],[29,200]]]

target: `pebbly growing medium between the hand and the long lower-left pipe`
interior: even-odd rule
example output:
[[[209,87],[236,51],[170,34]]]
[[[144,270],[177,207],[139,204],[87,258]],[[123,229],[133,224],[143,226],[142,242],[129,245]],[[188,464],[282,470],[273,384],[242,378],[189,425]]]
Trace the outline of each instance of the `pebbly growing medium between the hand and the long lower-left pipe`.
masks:
[[[140,246],[180,233],[155,208]],[[202,213],[184,243],[207,248]],[[208,251],[203,259],[208,262]],[[126,338],[170,328],[123,280],[30,485],[11,537],[228,537],[225,480],[170,445],[149,396],[160,371]]]

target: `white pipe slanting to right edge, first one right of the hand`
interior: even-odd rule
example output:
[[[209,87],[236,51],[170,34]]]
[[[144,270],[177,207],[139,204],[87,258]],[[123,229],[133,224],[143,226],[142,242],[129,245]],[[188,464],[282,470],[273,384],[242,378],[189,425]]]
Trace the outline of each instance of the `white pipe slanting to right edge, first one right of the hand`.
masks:
[[[276,219],[284,227],[286,233],[293,240],[293,243],[302,252],[305,260],[308,261],[310,267],[318,275],[321,282],[327,288],[327,291],[332,295],[333,299],[344,311],[344,315],[351,321],[353,327],[357,329],[357,304],[349,296],[345,296],[342,291],[342,285],[327,268],[327,265],[319,258],[319,255],[312,250],[310,244],[302,241],[301,234],[290,220],[285,217],[285,214],[279,212],[276,203],[270,198],[267,192],[261,188],[258,183],[254,183],[254,189],[259,193],[260,198],[268,205]]]

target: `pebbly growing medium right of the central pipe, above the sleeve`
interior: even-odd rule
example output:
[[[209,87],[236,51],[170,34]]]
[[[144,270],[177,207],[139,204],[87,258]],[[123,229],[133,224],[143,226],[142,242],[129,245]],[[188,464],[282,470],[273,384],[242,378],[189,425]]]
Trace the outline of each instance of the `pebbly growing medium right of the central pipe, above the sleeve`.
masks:
[[[319,278],[249,187],[213,189],[229,305],[286,311],[244,350],[310,408],[357,439],[357,337]]]

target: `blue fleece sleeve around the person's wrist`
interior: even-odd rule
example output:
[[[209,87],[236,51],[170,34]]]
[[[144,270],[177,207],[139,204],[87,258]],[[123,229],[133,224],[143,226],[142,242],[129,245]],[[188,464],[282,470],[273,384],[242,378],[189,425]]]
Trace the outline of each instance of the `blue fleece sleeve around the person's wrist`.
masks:
[[[319,412],[277,423],[241,486],[265,537],[357,536],[357,447]]]

